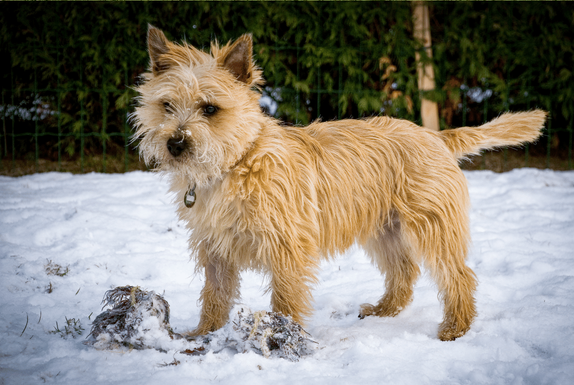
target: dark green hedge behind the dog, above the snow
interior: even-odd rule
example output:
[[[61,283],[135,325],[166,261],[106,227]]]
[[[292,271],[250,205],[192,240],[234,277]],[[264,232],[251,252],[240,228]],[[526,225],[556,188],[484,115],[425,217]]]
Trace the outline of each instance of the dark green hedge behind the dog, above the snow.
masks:
[[[574,4],[429,2],[441,129],[542,108],[545,137],[467,168],[572,168]],[[411,2],[3,2],[0,174],[145,168],[131,87],[148,23],[209,47],[251,32],[290,124],[387,114],[421,123]]]

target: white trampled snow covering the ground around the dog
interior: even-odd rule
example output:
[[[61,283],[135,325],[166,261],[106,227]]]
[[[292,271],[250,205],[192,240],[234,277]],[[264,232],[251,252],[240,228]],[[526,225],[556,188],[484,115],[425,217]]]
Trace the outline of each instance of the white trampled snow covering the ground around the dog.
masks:
[[[298,362],[187,356],[181,341],[168,352],[84,345],[117,286],[163,294],[176,332],[197,324],[203,278],[193,276],[166,185],[146,172],[0,176],[0,384],[574,383],[574,172],[466,175],[468,264],[480,280],[470,332],[437,340],[441,309],[426,276],[397,317],[357,318],[382,279],[353,250],[323,265],[306,328],[319,349]],[[242,302],[269,310],[265,284],[243,275]],[[81,336],[53,333],[66,318],[79,320]]]

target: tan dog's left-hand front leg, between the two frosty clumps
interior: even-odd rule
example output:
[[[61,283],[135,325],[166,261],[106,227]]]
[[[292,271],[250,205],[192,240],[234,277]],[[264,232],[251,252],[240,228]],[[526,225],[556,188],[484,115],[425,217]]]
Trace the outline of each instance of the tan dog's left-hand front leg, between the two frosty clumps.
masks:
[[[207,334],[225,325],[234,299],[239,297],[239,272],[234,264],[205,247],[199,251],[199,263],[205,270],[201,313],[199,325],[188,336]]]

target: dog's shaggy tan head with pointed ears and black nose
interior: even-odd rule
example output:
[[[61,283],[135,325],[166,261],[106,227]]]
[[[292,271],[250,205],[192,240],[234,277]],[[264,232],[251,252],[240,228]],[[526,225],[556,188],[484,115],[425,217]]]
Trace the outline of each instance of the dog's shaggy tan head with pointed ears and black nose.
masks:
[[[198,185],[220,178],[249,149],[261,130],[261,71],[250,34],[211,54],[168,41],[149,26],[150,71],[137,87],[133,115],[146,163]],[[238,117],[241,117],[238,119]]]

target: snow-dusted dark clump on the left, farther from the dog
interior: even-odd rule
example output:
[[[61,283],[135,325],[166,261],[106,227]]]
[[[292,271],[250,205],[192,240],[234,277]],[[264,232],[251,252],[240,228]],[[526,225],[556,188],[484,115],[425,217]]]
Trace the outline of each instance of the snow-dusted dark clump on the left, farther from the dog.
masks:
[[[92,322],[90,335],[94,340],[88,343],[95,348],[123,345],[134,349],[162,349],[173,338],[168,302],[153,291],[134,286],[116,287],[106,292],[102,303],[112,308]]]

